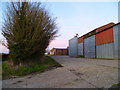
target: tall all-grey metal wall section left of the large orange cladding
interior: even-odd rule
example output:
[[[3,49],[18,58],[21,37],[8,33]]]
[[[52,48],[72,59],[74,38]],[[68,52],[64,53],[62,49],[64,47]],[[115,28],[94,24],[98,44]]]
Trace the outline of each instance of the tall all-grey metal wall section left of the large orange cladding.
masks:
[[[84,55],[88,58],[95,58],[95,35],[84,39]]]

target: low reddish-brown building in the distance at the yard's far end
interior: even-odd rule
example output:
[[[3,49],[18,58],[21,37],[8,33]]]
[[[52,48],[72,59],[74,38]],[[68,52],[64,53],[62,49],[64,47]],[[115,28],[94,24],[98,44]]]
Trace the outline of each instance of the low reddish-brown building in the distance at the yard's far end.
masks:
[[[68,49],[53,48],[49,52],[50,55],[68,55]]]

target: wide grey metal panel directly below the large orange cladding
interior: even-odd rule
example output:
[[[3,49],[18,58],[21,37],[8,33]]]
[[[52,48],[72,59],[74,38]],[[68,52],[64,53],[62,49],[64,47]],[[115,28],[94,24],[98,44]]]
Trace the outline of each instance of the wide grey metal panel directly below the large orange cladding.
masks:
[[[114,58],[114,43],[107,43],[96,46],[97,58]]]

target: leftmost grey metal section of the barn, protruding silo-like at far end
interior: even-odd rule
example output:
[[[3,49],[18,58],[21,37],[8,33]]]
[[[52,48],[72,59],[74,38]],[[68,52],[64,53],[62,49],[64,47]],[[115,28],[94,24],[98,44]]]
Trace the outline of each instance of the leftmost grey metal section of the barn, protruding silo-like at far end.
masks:
[[[74,37],[69,40],[69,56],[76,57],[78,55],[78,38]]]

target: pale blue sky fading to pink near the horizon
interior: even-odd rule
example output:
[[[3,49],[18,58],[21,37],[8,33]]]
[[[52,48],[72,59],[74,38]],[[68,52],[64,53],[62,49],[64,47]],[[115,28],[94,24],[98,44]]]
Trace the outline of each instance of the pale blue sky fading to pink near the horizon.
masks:
[[[118,22],[118,2],[47,2],[46,8],[52,17],[57,17],[59,37],[53,40],[49,49],[66,48],[68,40],[105,25],[110,22]],[[0,3],[0,8],[5,9],[5,4]],[[0,9],[0,21],[3,10]],[[0,28],[2,23],[0,22]],[[0,34],[0,39],[3,37]],[[6,52],[2,47],[0,52]]]

